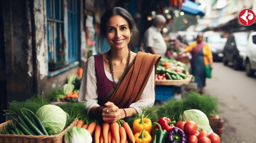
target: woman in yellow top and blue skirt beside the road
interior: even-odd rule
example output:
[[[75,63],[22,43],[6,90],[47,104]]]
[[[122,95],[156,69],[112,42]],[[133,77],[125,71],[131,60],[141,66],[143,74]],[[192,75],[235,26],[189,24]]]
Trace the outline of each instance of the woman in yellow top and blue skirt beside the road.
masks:
[[[196,42],[189,45],[185,51],[181,51],[179,55],[185,52],[191,52],[191,74],[195,76],[195,82],[197,83],[198,92],[204,94],[205,87],[205,65],[210,65],[211,69],[213,64],[212,52],[208,43],[203,42],[203,35],[197,35]]]

